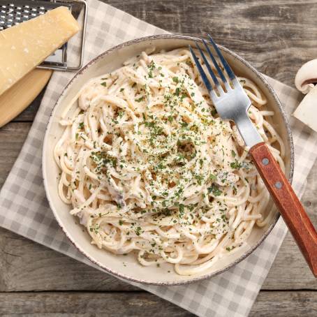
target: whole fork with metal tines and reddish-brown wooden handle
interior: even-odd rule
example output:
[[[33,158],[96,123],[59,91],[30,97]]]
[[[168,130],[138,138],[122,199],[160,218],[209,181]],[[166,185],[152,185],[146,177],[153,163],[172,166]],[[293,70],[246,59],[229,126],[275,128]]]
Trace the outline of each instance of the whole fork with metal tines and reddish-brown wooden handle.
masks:
[[[212,60],[216,72],[213,71],[205,53],[202,52],[202,49],[197,42],[196,47],[200,52],[202,60],[205,62],[207,71],[214,82],[215,89],[212,87],[212,83],[207,78],[207,74],[202,68],[202,65],[200,64],[200,61],[198,60],[198,57],[193,51],[191,45],[189,45],[189,50],[191,51],[196,63],[202,82],[204,82],[209,96],[212,99],[212,103],[214,104],[221,119],[235,122],[246,147],[249,148],[249,154],[253,163],[256,165],[260,176],[265,182],[275,205],[277,205],[279,212],[283,216],[288,229],[302,251],[311,271],[314,276],[317,277],[316,230],[309,220],[309,216],[307,216],[307,213],[304,211],[304,207],[302,206],[300,200],[293,191],[292,186],[290,186],[290,183],[283,174],[277,161],[275,161],[274,156],[265,145],[265,142],[263,142],[255,126],[253,126],[251,119],[249,119],[247,111],[251,105],[251,100],[246,95],[246,92],[242,88],[241,84],[239,84],[235,73],[233,73],[233,70],[230,68],[228,62],[221,54],[219,47],[217,47],[216,43],[214,43],[214,40],[211,36],[209,36],[209,34],[208,37],[214,52],[216,52],[216,55],[219,57],[219,64],[223,66],[223,70],[226,71],[230,82],[226,79],[225,74],[221,70],[221,67],[219,67],[212,50],[205,40],[202,40],[202,43],[205,46],[205,52]],[[219,78],[221,79],[225,89],[221,86],[216,73],[219,74]],[[216,91],[218,94],[216,94]]]

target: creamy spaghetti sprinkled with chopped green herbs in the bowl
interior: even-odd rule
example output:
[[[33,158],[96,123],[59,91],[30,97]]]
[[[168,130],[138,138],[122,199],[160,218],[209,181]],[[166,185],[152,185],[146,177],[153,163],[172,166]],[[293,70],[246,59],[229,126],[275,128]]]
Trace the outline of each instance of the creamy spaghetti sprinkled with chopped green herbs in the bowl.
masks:
[[[274,112],[256,84],[239,82],[283,169]],[[90,80],[60,123],[59,196],[100,249],[196,274],[274,216],[248,149],[235,124],[217,115],[189,50],[142,52]]]

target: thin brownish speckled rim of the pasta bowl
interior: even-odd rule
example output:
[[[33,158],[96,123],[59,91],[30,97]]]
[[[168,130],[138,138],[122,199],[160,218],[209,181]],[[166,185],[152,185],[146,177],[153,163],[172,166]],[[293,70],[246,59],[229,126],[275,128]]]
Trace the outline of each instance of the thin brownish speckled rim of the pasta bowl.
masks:
[[[86,258],[88,258],[91,263],[94,263],[95,265],[97,265],[98,267],[100,267],[102,270],[104,270],[105,272],[108,272],[112,275],[114,275],[115,277],[119,277],[122,279],[126,279],[128,281],[131,282],[135,282],[135,283],[142,283],[145,285],[157,285],[157,286],[179,286],[179,285],[185,285],[185,284],[189,284],[189,283],[195,283],[198,281],[203,281],[205,279],[210,279],[212,277],[215,277],[218,274],[221,274],[223,272],[226,272],[227,270],[229,270],[230,268],[234,267],[235,265],[237,265],[238,263],[240,263],[242,260],[244,260],[245,258],[247,258],[251,253],[253,253],[253,251],[255,251],[258,246],[260,246],[260,244],[263,243],[263,241],[266,239],[266,237],[271,233],[272,229],[274,228],[274,226],[277,224],[277,221],[279,220],[280,214],[279,212],[277,212],[277,215],[274,217],[271,225],[267,228],[267,230],[265,231],[264,235],[262,237],[260,237],[260,239],[258,240],[258,242],[256,244],[254,244],[251,249],[249,249],[248,251],[246,251],[245,253],[242,254],[242,256],[239,256],[239,258],[237,258],[233,263],[230,263],[230,265],[227,265],[226,267],[223,267],[221,270],[217,270],[216,272],[212,272],[206,275],[202,275],[200,277],[193,277],[192,279],[187,279],[184,281],[150,281],[150,280],[145,280],[145,279],[137,279],[131,276],[128,276],[126,274],[122,274],[119,272],[116,272],[115,270],[112,270],[109,267],[106,267],[105,265],[103,265],[102,263],[99,263],[97,260],[94,260],[93,258],[91,258],[91,256],[89,256],[87,254],[86,251],[84,251],[82,249],[81,246],[78,246],[76,244],[75,241],[73,241],[73,239],[71,238],[70,235],[68,235],[67,229],[64,228],[64,224],[62,223],[62,221],[59,219],[59,216],[57,214],[57,212],[55,212],[54,209],[54,204],[52,203],[51,199],[50,199],[50,191],[48,190],[48,184],[47,184],[47,177],[46,177],[46,163],[45,163],[45,150],[47,147],[47,139],[48,139],[48,133],[47,131],[50,130],[50,126],[52,124],[53,121],[53,112],[55,110],[55,108],[57,107],[57,105],[60,103],[61,98],[64,97],[64,95],[66,94],[66,91],[68,90],[68,87],[71,86],[71,84],[73,84],[73,81],[78,78],[78,76],[82,75],[82,73],[89,68],[91,65],[95,64],[97,61],[99,61],[100,59],[103,59],[103,57],[107,56],[108,54],[111,54],[112,52],[115,52],[117,50],[121,50],[123,47],[126,46],[130,46],[130,45],[134,45],[136,43],[140,43],[140,42],[144,42],[144,41],[151,41],[151,40],[171,40],[171,39],[177,39],[177,40],[191,40],[191,41],[198,41],[201,42],[201,38],[196,38],[194,36],[183,36],[183,35],[177,35],[177,34],[158,34],[158,35],[154,35],[154,36],[145,36],[145,37],[141,37],[141,38],[135,38],[133,40],[128,40],[124,43],[121,43],[119,45],[116,45],[114,47],[111,47],[109,50],[106,50],[105,52],[99,54],[97,57],[94,57],[94,59],[91,59],[91,61],[89,61],[87,64],[85,64],[80,71],[78,71],[78,73],[76,73],[73,78],[71,78],[71,80],[68,82],[68,84],[66,84],[66,86],[64,87],[63,91],[61,91],[61,94],[59,95],[59,98],[57,99],[56,103],[54,104],[54,107],[52,108],[52,111],[50,113],[50,117],[48,119],[48,123],[47,126],[45,128],[45,137],[43,140],[43,152],[42,152],[42,172],[43,172],[43,184],[44,184],[44,188],[45,188],[45,193],[46,193],[46,198],[47,201],[50,205],[50,209],[52,209],[52,212],[54,214],[54,218],[57,220],[57,223],[59,224],[59,227],[61,228],[61,230],[63,230],[64,234],[66,235],[66,237],[69,239],[69,241],[73,244],[73,246],[75,246],[76,249],[78,249],[78,251],[80,251],[80,253],[82,253]],[[236,54],[235,52],[229,50],[226,47],[223,47],[222,45],[218,45],[219,48],[221,50],[223,50],[224,52],[226,52],[227,54],[231,55],[233,58],[239,60],[240,62],[242,62],[242,64],[244,64],[244,66],[246,68],[251,69],[251,71],[253,73],[255,73],[255,75],[259,78],[259,80],[265,85],[265,87],[268,89],[268,91],[270,92],[270,94],[272,95],[272,97],[274,98],[275,103],[277,103],[277,106],[279,108],[279,112],[281,114],[281,117],[283,118],[283,124],[286,127],[286,131],[287,131],[287,139],[288,139],[288,144],[290,145],[290,173],[289,173],[289,177],[288,180],[290,183],[292,183],[293,180],[293,172],[294,172],[294,145],[293,145],[293,137],[292,137],[292,133],[290,130],[290,124],[288,121],[288,118],[286,117],[286,112],[283,109],[281,102],[279,101],[279,98],[277,97],[277,94],[274,92],[274,90],[272,89],[272,87],[270,86],[270,84],[267,82],[267,80],[263,77],[263,75],[261,73],[259,73],[256,68],[254,68],[253,66],[251,66],[251,64],[246,61],[244,58],[240,57],[238,54]]]

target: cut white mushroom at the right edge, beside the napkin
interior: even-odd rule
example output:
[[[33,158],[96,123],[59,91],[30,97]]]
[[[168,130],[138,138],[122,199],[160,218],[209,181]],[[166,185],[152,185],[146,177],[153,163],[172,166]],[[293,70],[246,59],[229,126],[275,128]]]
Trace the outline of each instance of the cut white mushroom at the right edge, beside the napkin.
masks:
[[[304,96],[293,116],[317,132],[317,59],[307,61],[295,76],[295,86]]]

